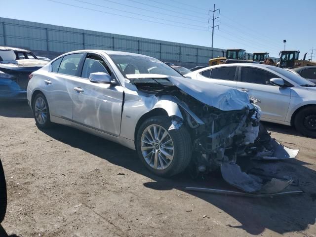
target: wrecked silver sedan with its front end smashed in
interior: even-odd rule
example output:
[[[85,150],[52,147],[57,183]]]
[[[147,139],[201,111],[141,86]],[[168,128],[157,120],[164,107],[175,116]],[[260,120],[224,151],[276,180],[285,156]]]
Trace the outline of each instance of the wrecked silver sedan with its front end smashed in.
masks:
[[[28,102],[36,124],[65,124],[136,150],[153,173],[188,166],[220,168],[247,193],[276,193],[291,180],[270,181],[241,171],[239,160],[295,158],[271,139],[260,108],[246,93],[184,78],[161,61],[133,53],[80,50],[34,72]]]

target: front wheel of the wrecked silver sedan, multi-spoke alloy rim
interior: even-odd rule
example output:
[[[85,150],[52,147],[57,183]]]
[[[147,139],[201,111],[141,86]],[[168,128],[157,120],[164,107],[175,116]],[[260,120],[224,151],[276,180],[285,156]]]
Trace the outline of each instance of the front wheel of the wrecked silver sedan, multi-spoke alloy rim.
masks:
[[[138,129],[136,150],[145,166],[154,174],[169,177],[185,170],[192,157],[191,137],[184,125],[168,130],[171,119],[155,116]]]

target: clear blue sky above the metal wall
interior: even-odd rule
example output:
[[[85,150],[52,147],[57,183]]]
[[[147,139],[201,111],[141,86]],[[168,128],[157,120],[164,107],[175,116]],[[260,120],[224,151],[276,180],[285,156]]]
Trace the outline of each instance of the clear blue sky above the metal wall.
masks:
[[[208,10],[215,3],[220,21],[216,21],[219,29],[214,30],[214,47],[267,51],[277,57],[287,40],[286,49],[300,50],[300,58],[316,48],[316,0],[53,1],[3,0],[0,16],[210,46]],[[316,61],[316,54],[313,59]]]

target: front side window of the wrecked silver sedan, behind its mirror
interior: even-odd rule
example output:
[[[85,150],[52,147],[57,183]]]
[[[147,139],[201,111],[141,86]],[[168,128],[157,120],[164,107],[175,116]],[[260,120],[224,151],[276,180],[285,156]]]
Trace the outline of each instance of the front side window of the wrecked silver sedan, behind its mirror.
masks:
[[[112,72],[103,59],[95,54],[88,54],[84,60],[81,78],[89,79],[91,73],[107,73],[110,76]]]

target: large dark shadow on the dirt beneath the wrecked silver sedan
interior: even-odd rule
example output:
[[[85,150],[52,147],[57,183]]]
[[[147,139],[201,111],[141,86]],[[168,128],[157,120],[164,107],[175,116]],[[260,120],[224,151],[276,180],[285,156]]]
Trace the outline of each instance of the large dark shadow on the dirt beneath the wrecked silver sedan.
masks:
[[[241,223],[239,226],[227,225],[230,228],[243,229],[252,235],[261,234],[265,229],[284,234],[303,231],[309,225],[315,224],[316,171],[304,166],[306,163],[303,161],[291,159],[273,162],[273,165],[278,167],[276,170],[288,171],[299,178],[300,185],[295,188],[303,190],[302,195],[250,198],[197,193],[186,191],[185,187],[229,190],[232,190],[232,187],[224,182],[221,176],[207,176],[198,180],[192,180],[186,173],[172,178],[158,177],[144,167],[135,151],[77,129],[55,125],[53,129],[43,132],[60,142],[149,177],[153,182],[143,184],[149,189],[177,189],[217,206]]]

